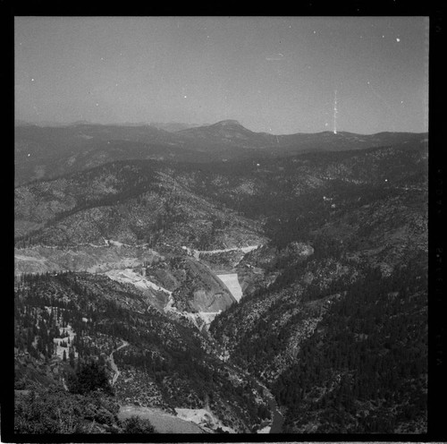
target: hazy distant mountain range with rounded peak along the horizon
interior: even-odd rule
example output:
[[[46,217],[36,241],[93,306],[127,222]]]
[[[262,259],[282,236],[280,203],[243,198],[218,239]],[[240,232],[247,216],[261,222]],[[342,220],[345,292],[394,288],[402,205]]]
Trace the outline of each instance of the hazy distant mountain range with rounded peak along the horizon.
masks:
[[[181,128],[174,131],[176,128]],[[169,131],[167,131],[169,129]],[[235,120],[183,128],[182,124],[15,127],[15,183],[51,178],[122,159],[204,163],[232,158],[272,158],[299,152],[367,149],[427,141],[426,133],[252,132]]]

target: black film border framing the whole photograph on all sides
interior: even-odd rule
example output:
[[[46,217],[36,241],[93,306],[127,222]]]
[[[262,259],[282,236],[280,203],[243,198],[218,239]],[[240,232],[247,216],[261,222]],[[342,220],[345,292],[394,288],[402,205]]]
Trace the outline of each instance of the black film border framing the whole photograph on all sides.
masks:
[[[445,81],[447,79],[443,63],[443,37],[445,34],[442,1],[418,2],[405,0],[376,1],[343,1],[322,4],[320,1],[306,1],[301,4],[229,4],[227,2],[208,3],[207,5],[190,4],[82,4],[80,2],[55,2],[35,0],[29,2],[13,2],[0,0],[2,41],[5,43],[4,59],[6,70],[2,76],[8,85],[6,97],[11,101],[7,107],[13,111],[13,28],[14,16],[181,16],[181,15],[213,15],[213,16],[427,16],[430,19],[429,43],[429,394],[428,394],[428,432],[426,434],[153,434],[153,435],[18,435],[13,433],[13,360],[7,358],[2,366],[1,389],[1,435],[2,442],[434,442],[447,441],[447,375],[445,365],[446,328],[445,316],[445,166],[443,163],[443,117]],[[8,68],[12,68],[11,71]],[[10,76],[8,76],[8,74]],[[11,80],[11,83],[8,81]],[[11,84],[11,88],[9,85]],[[7,119],[8,135],[13,143],[13,112]],[[8,173],[13,172],[13,150],[7,144],[4,148],[12,156],[12,165]],[[3,175],[4,176],[4,175]],[[7,176],[7,175],[6,175]],[[7,182],[6,184],[13,184]],[[6,185],[5,184],[5,185]],[[13,204],[12,204],[13,207]],[[13,222],[13,217],[11,218]],[[13,235],[11,235],[13,239]],[[13,242],[12,242],[13,243]],[[12,268],[8,277],[13,277],[13,261],[6,255]],[[13,283],[11,287],[12,288]],[[4,312],[8,313],[2,320],[2,328],[6,337],[4,356],[13,354],[13,340],[8,335],[13,333],[13,297],[6,292],[2,300]],[[11,346],[11,348],[9,348]],[[439,404],[438,404],[439,403]]]

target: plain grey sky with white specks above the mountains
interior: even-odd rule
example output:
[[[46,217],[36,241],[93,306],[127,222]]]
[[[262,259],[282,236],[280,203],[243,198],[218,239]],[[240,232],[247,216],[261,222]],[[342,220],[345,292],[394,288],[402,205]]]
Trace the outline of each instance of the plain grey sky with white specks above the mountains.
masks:
[[[426,17],[15,17],[15,118],[426,132],[428,27]]]

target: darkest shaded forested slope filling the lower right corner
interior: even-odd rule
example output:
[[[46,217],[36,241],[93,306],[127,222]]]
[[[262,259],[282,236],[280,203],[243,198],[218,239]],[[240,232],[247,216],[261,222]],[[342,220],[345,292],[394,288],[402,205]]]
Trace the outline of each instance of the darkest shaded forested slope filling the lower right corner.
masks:
[[[274,384],[278,402],[288,408],[287,431],[424,427],[426,278],[417,263],[389,277],[371,269],[333,302],[301,344],[296,362]]]

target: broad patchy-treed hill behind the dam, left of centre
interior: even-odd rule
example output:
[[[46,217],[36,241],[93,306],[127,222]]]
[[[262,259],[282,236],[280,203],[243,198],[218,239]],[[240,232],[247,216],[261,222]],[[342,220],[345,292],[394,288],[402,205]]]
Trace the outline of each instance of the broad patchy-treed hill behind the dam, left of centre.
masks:
[[[152,163],[110,164],[18,187],[15,227],[23,246],[106,238],[219,248],[261,239],[257,222],[191,192],[173,170]]]

